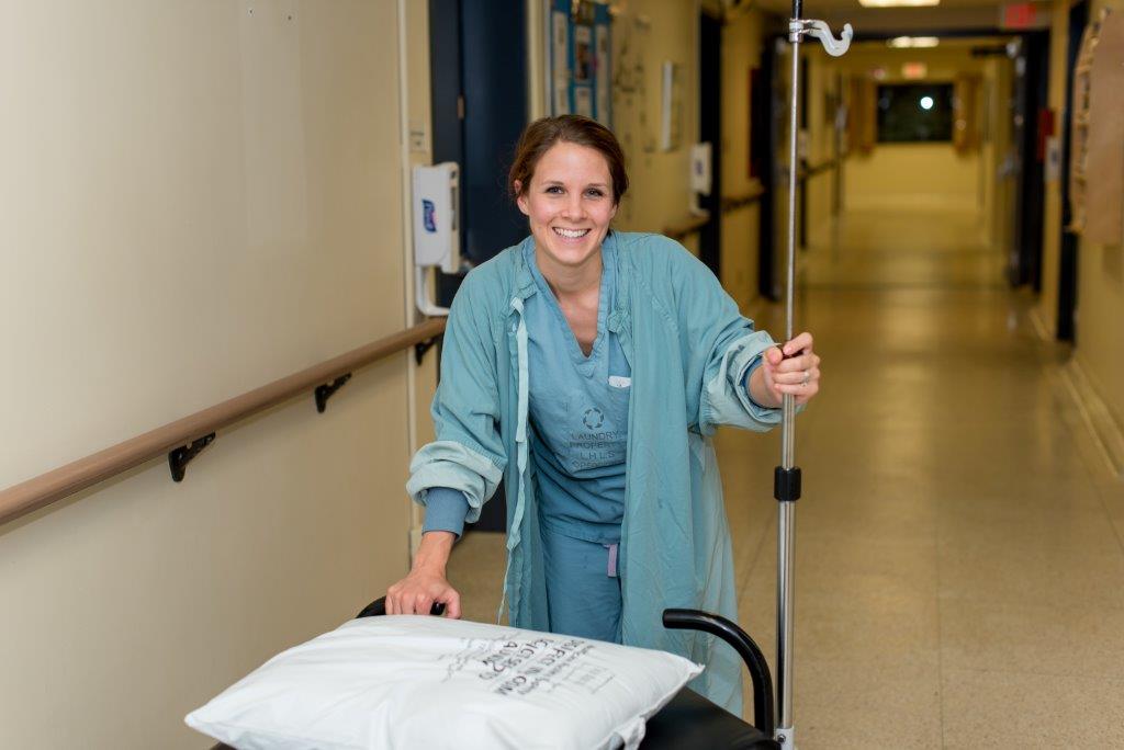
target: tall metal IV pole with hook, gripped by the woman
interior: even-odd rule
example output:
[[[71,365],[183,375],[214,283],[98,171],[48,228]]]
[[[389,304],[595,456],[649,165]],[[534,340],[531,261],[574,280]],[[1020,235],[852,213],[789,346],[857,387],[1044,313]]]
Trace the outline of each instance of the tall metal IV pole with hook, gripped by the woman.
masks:
[[[798,89],[800,84],[800,44],[805,35],[816,37],[827,54],[839,57],[851,46],[850,24],[841,39],[832,36],[827,24],[800,18],[803,0],[792,0],[788,40],[792,45],[791,99],[788,127],[788,278],[785,290],[785,340],[794,336],[796,286],[796,141]],[[796,402],[785,394],[781,422],[781,463],[773,474],[773,496],[780,503],[777,522],[777,730],[774,739],[783,750],[795,750],[792,728],[792,560],[796,528],[796,501],[800,497],[800,468],[796,466]]]

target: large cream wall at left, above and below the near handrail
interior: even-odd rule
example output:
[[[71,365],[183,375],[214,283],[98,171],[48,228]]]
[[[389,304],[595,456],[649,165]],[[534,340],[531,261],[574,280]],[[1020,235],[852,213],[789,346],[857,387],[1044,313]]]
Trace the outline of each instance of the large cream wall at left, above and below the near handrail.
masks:
[[[0,487],[408,322],[398,28],[8,8]],[[182,484],[155,460],[0,528],[0,747],[206,747],[183,714],[402,574],[408,362],[220,432]]]

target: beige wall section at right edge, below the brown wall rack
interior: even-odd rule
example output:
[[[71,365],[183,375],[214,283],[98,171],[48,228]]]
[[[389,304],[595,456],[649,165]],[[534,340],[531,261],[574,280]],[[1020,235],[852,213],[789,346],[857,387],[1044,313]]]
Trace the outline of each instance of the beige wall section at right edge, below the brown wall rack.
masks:
[[[1089,19],[1102,8],[1124,12],[1124,0],[1094,0]],[[1117,427],[1124,426],[1124,247],[1081,238],[1077,273],[1077,358]]]

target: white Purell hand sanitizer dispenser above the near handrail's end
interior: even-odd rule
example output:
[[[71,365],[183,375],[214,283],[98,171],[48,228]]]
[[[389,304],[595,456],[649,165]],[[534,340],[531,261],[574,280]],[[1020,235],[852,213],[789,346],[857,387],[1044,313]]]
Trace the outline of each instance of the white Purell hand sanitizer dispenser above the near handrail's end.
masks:
[[[426,315],[447,315],[448,308],[429,300],[429,268],[446,274],[461,269],[460,171],[455,162],[414,167],[414,264],[418,310]]]

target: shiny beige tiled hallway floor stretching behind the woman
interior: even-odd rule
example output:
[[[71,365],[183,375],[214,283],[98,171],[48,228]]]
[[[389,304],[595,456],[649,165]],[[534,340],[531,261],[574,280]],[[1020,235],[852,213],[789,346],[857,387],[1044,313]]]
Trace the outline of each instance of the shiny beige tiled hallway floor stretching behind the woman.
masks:
[[[824,357],[797,428],[803,750],[1124,747],[1124,483],[978,236],[854,214],[801,254]],[[778,435],[717,445],[742,624],[771,653]],[[495,616],[502,560],[498,534],[454,552],[466,616]]]

